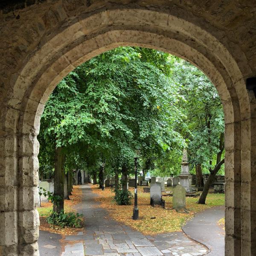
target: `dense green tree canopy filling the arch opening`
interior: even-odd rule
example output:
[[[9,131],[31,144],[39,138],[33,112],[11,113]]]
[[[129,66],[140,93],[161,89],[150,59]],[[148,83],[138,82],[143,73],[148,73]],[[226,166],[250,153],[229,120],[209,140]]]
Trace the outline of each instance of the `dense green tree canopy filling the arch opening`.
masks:
[[[218,93],[192,64],[154,49],[118,47],[70,72],[45,106],[38,136],[40,172],[52,173],[55,147],[65,169],[180,172],[183,147],[191,167],[209,173],[219,152],[224,114]],[[224,157],[224,153],[223,153]],[[192,169],[191,168],[191,169]],[[224,172],[222,167],[221,173]]]

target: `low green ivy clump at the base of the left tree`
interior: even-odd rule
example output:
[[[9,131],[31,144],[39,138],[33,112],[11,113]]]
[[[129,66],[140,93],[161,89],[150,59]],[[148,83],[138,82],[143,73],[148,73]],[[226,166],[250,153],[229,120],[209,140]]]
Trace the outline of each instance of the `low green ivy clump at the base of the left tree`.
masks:
[[[52,212],[46,218],[46,221],[49,224],[57,225],[60,227],[81,227],[82,224],[82,214],[74,213],[74,212],[66,212],[62,210],[60,213]]]

